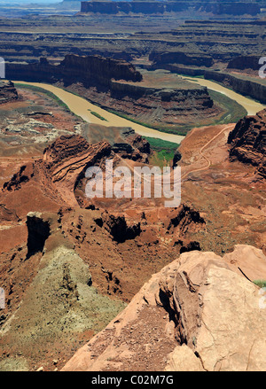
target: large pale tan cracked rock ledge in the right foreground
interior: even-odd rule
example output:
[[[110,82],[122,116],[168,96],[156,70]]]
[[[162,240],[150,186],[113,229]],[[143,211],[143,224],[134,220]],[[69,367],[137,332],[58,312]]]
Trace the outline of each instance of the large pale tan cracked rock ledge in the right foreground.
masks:
[[[249,253],[256,266],[248,247],[237,247],[235,260]],[[215,253],[183,253],[63,370],[265,370],[262,300],[260,289]]]

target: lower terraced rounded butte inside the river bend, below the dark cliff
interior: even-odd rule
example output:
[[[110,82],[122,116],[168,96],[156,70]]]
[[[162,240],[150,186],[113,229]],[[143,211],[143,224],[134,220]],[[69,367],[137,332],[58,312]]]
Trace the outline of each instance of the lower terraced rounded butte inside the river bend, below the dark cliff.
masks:
[[[195,85],[195,88],[153,88],[141,82],[112,82],[111,89],[100,93],[95,89],[76,89],[90,101],[97,102],[104,109],[129,115],[137,121],[168,128],[193,121],[214,117],[217,114],[214,101],[207,88]],[[159,118],[158,118],[159,117]],[[155,124],[154,124],[155,123]]]

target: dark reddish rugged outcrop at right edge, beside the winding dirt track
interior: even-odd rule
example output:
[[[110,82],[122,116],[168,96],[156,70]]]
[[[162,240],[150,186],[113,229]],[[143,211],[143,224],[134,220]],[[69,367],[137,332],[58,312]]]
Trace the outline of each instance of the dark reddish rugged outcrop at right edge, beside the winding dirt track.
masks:
[[[231,160],[257,167],[257,172],[266,178],[266,110],[255,116],[245,116],[228,136]]]

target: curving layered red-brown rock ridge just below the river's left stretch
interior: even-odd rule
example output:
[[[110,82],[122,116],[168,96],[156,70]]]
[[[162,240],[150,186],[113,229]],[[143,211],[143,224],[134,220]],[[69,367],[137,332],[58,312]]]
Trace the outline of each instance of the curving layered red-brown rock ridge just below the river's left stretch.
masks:
[[[148,162],[149,144],[133,131],[125,143],[111,144],[102,141],[89,144],[82,136],[59,136],[43,151],[43,159],[20,167],[18,173],[3,185],[2,191],[19,191],[35,178],[46,196],[63,201],[68,206],[77,206],[75,189],[85,178],[88,167],[96,166],[116,153],[124,159]],[[81,205],[81,204],[80,204]]]

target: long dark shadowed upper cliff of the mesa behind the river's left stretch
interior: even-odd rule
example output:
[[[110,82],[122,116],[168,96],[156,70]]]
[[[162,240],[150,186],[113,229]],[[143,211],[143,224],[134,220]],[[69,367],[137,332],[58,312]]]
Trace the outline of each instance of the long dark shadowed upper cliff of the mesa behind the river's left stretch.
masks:
[[[51,65],[46,58],[41,58],[35,64],[6,64],[6,76],[12,80],[30,82],[83,82],[86,85],[107,87],[112,79],[132,82],[142,80],[142,75],[129,62],[98,55],[67,55],[58,66]]]

